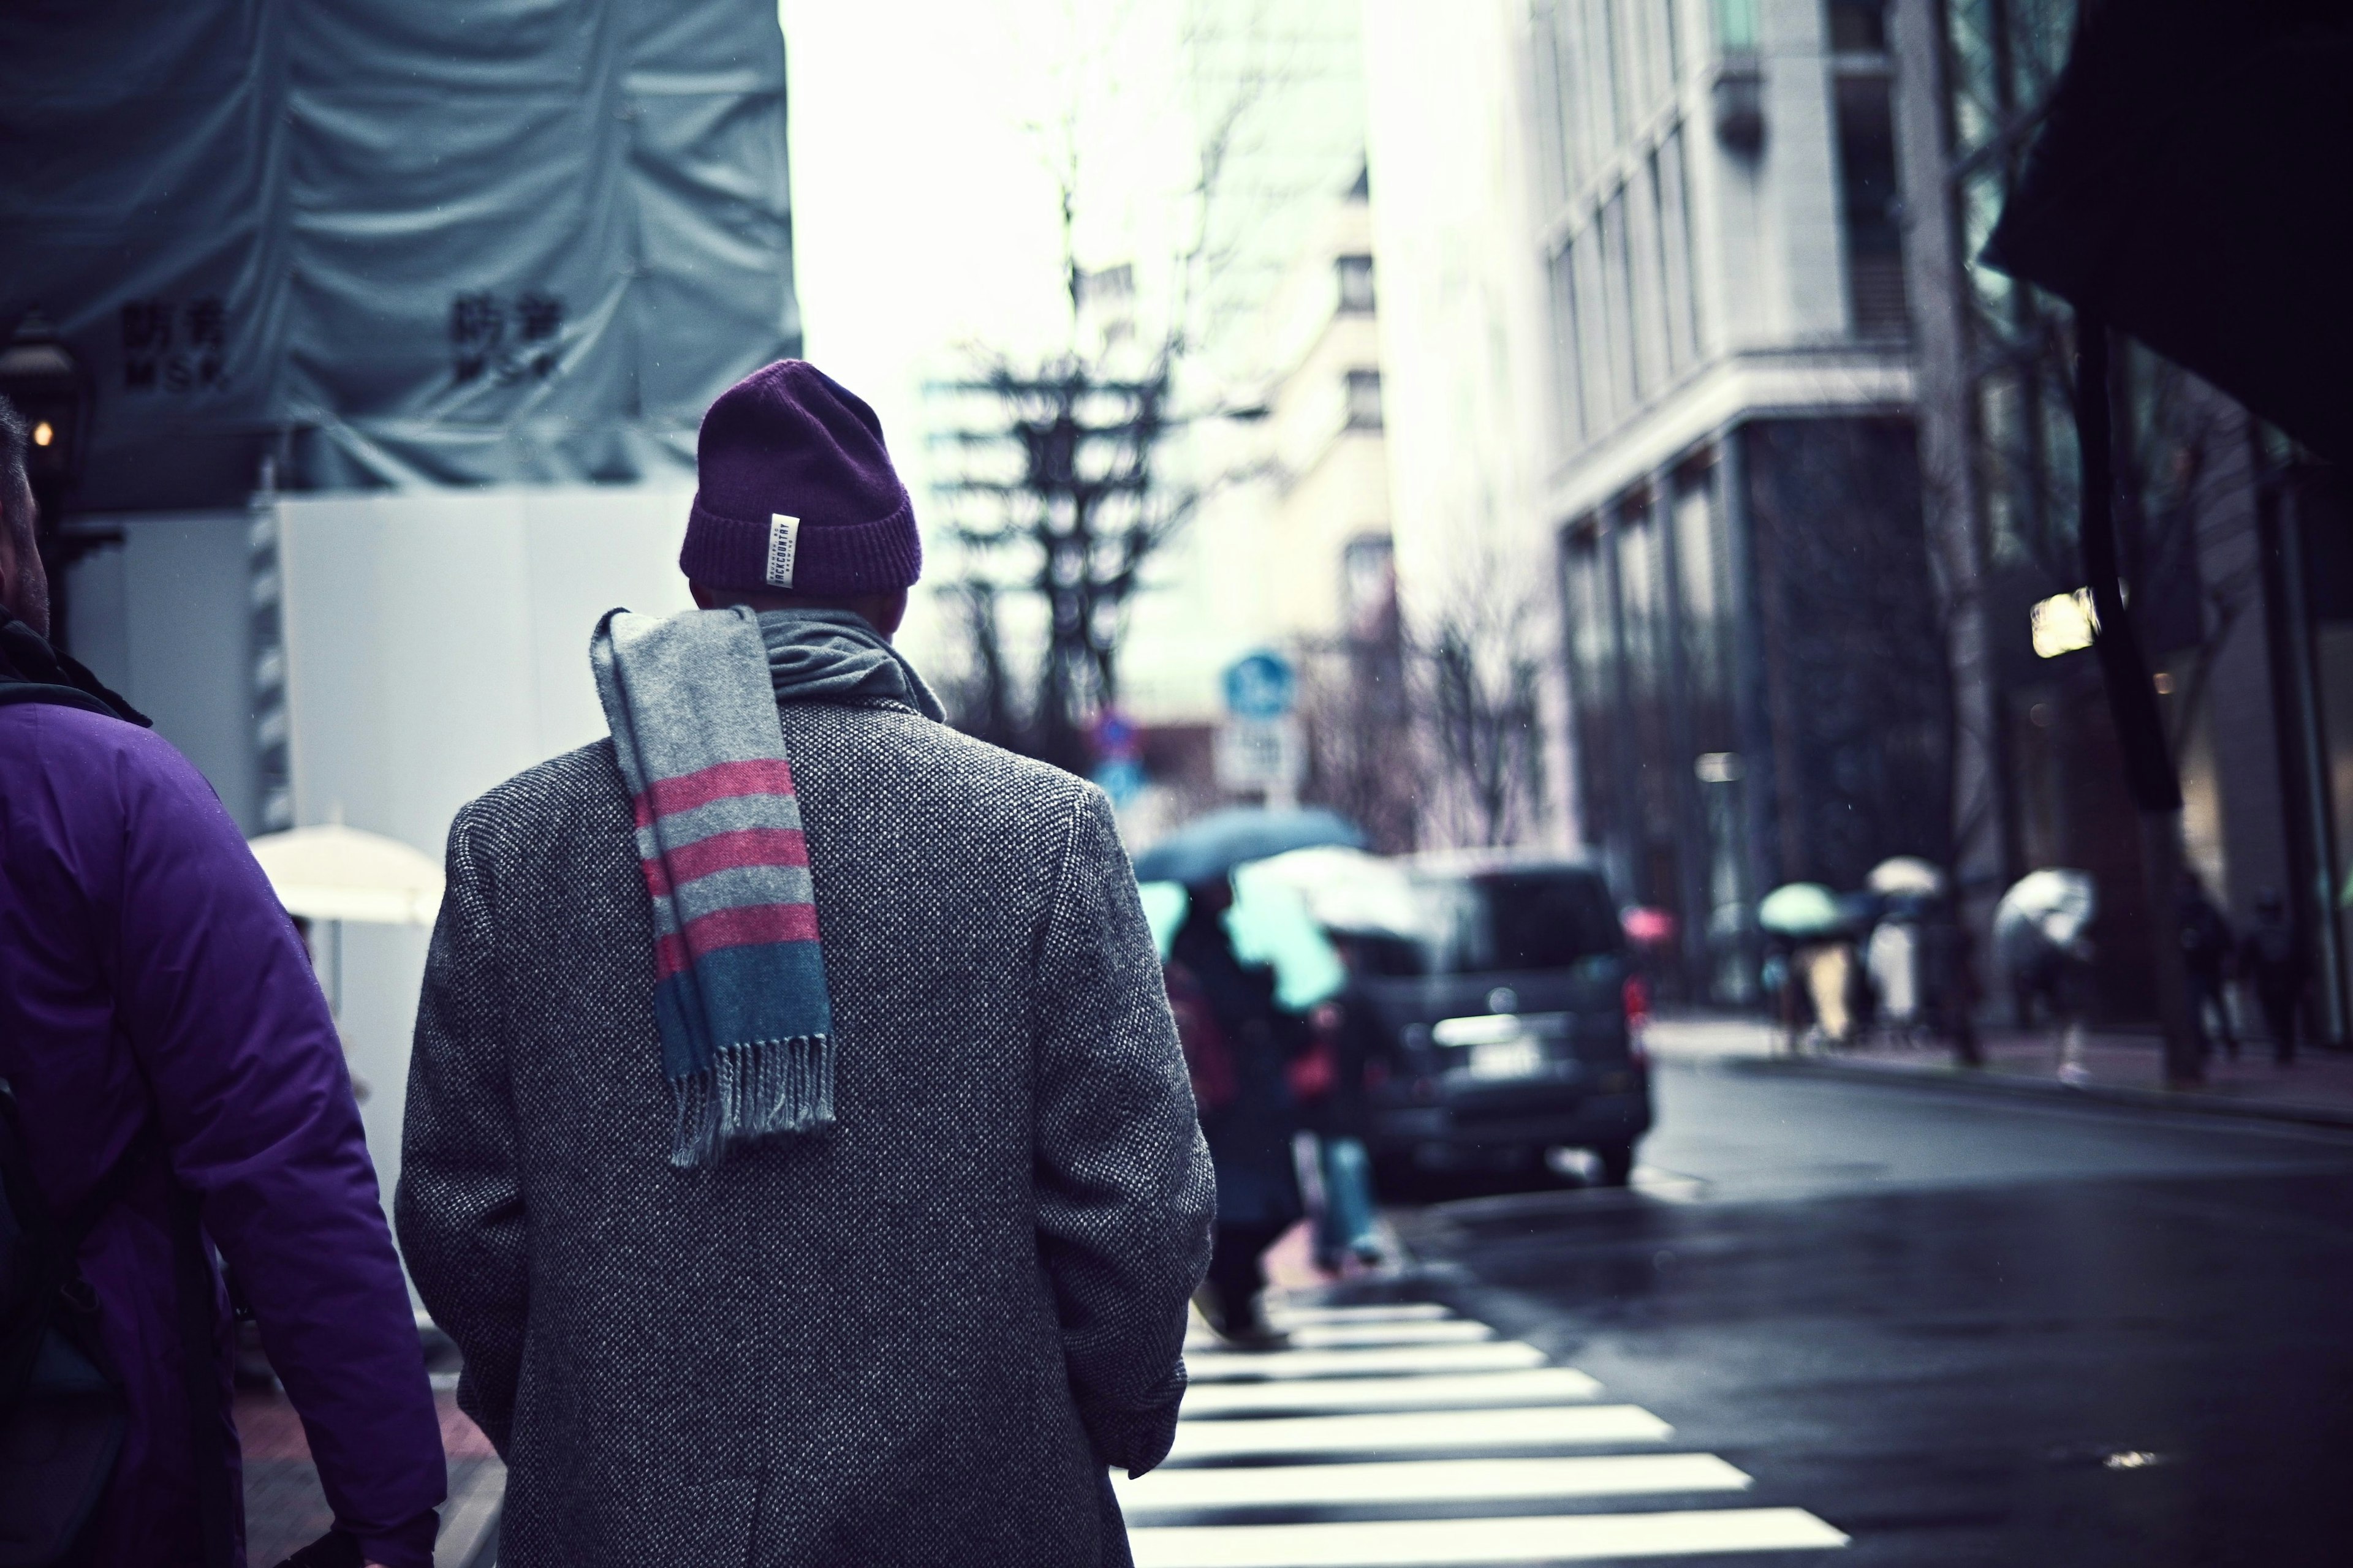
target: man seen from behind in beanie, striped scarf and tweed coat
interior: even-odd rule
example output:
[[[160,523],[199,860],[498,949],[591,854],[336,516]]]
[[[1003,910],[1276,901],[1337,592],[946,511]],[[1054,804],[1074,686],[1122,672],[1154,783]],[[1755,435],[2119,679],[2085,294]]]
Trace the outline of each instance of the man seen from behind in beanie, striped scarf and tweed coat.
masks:
[[[501,1568],[1125,1563],[1212,1175],[1111,804],[892,649],[861,400],[755,371],[699,470],[706,609],[449,827],[398,1218]]]

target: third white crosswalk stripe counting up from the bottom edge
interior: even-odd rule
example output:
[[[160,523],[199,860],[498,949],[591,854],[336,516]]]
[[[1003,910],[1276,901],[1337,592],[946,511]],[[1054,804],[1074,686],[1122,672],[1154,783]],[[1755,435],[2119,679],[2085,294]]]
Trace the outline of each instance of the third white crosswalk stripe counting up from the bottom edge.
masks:
[[[1673,1427],[1640,1406],[1181,1420],[1176,1422],[1176,1446],[1169,1450],[1169,1465],[1287,1453],[1445,1453],[1555,1443],[1664,1443],[1673,1432]]]

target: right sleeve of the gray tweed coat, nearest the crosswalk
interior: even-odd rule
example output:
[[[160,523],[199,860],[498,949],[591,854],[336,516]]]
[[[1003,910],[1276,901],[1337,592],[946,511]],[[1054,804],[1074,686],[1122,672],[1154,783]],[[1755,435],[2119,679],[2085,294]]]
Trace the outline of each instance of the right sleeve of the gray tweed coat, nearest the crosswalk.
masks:
[[[1136,879],[1092,785],[1047,912],[1035,1009],[1038,1253],[1080,1420],[1106,1462],[1141,1474],[1176,1434],[1217,1185]]]

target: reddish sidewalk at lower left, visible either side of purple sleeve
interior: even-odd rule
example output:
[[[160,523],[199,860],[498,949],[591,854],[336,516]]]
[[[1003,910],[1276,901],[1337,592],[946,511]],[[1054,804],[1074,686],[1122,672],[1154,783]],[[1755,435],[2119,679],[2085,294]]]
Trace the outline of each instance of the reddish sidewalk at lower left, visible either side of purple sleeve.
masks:
[[[435,1568],[471,1568],[506,1495],[506,1467],[489,1439],[459,1408],[452,1389],[435,1389],[442,1453],[449,1455],[449,1502],[433,1544]],[[278,1389],[238,1389],[238,1443],[245,1448],[245,1561],[273,1568],[334,1528],[318,1490],[301,1418]]]

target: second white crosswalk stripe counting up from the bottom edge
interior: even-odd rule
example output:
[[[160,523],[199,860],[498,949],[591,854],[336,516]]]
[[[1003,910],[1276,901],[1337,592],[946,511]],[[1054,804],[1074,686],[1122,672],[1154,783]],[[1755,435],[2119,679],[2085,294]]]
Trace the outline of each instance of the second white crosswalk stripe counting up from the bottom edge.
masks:
[[[1235,1507],[1348,1502],[1497,1502],[1737,1493],[1748,1476],[1713,1453],[1612,1453],[1577,1460],[1409,1460],[1155,1469],[1113,1481],[1129,1519]]]

